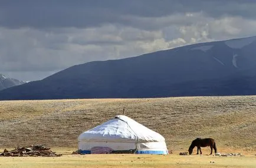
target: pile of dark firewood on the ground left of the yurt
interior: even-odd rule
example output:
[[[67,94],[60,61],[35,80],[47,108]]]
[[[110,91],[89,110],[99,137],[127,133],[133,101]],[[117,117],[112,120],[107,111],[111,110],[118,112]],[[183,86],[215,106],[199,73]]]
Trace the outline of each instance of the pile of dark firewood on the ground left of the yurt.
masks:
[[[61,154],[56,154],[52,152],[49,147],[42,145],[31,145],[26,147],[17,147],[14,150],[4,150],[0,153],[0,156],[46,156],[54,157],[61,156]]]

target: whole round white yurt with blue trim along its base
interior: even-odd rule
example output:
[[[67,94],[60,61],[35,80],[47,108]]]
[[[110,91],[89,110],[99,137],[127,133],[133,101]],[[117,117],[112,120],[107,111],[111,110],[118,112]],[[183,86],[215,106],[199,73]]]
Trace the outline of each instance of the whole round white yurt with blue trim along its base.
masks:
[[[162,135],[124,115],[81,133],[78,150],[83,154],[168,154]]]

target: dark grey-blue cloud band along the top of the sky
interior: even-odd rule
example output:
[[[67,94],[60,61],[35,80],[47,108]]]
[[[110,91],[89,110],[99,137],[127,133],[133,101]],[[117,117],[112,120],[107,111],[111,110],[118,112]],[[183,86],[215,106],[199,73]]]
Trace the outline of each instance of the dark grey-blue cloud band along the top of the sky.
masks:
[[[8,28],[87,28],[105,23],[136,26],[124,16],[160,17],[204,12],[213,17],[255,18],[255,8],[254,0],[4,0],[0,2],[0,25]]]

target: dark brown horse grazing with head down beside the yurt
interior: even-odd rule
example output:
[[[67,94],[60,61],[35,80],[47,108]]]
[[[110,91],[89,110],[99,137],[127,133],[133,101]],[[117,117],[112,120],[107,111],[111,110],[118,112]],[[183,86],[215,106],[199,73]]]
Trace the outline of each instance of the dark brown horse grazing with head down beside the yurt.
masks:
[[[211,147],[211,153],[212,154],[212,148],[214,149],[214,152],[217,153],[216,143],[215,140],[212,138],[196,138],[192,141],[191,146],[189,146],[188,152],[189,154],[192,154],[194,147],[198,147],[198,150],[200,150],[200,154],[202,154],[201,147],[210,146]],[[198,153],[196,153],[198,154]]]

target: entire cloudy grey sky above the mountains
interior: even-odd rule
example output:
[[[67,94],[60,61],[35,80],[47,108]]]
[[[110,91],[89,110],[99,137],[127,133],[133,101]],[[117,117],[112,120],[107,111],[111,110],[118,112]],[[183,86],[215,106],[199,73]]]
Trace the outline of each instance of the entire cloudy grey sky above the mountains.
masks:
[[[80,63],[256,35],[254,0],[1,0],[0,73],[40,80]]]

